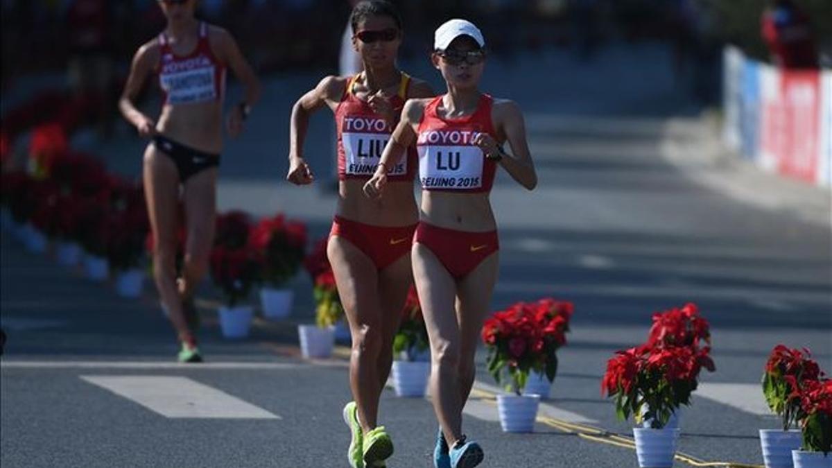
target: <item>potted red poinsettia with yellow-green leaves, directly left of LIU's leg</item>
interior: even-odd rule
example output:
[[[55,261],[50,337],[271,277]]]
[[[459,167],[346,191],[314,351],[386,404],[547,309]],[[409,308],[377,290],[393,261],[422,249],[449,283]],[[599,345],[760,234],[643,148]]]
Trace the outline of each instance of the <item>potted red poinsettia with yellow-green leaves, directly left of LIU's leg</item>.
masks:
[[[326,257],[326,241],[325,238],[319,241],[304,261],[306,271],[312,277],[315,301],[315,325],[298,326],[300,351],[306,358],[329,357],[332,354],[334,326],[344,316],[332,266]]]

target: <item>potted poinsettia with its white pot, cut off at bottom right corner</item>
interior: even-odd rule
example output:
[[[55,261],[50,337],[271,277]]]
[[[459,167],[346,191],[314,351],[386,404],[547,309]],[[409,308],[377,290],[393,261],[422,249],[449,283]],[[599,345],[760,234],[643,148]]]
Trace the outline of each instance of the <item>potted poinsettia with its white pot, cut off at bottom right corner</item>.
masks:
[[[790,399],[800,401],[796,419],[803,444],[791,452],[795,468],[828,468],[832,466],[832,380],[787,376]]]

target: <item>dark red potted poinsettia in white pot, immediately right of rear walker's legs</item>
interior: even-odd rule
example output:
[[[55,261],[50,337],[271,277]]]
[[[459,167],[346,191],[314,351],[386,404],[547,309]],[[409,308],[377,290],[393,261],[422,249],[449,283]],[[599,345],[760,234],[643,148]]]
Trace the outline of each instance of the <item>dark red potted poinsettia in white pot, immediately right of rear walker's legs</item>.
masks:
[[[243,212],[217,217],[214,248],[210,253],[210,275],[225,303],[220,306],[220,329],[226,338],[248,336],[254,316],[252,306],[241,304],[259,280],[260,264],[248,244],[250,224]]]

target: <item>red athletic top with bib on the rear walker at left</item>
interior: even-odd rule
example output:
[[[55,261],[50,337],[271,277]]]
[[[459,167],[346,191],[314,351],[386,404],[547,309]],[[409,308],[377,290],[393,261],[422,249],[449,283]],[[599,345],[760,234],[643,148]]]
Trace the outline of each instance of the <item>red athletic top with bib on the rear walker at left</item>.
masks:
[[[200,24],[200,38],[190,54],[181,57],[173,52],[164,32],[159,35],[161,61],[159,86],[165,104],[196,104],[221,101],[225,93],[225,63],[210,50],[208,27]]]

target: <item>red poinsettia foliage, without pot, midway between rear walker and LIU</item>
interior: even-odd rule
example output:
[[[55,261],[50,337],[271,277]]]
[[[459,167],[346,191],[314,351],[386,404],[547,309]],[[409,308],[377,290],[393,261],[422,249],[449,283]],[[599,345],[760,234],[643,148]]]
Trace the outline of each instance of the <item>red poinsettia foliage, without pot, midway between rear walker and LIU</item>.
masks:
[[[263,218],[255,224],[249,243],[260,261],[263,281],[283,286],[300,269],[306,250],[306,226],[283,215]]]

